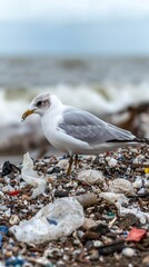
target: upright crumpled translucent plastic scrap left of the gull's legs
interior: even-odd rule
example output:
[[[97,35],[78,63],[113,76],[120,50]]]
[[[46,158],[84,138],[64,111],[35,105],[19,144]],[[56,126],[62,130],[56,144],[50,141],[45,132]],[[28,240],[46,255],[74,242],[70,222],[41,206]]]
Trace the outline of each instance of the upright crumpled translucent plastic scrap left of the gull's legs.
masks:
[[[32,198],[36,198],[40,194],[43,194],[46,190],[46,179],[42,176],[39,176],[33,170],[33,160],[30,158],[29,152],[23,155],[23,167],[21,169],[21,177],[26,180],[29,185],[37,187],[32,192]]]

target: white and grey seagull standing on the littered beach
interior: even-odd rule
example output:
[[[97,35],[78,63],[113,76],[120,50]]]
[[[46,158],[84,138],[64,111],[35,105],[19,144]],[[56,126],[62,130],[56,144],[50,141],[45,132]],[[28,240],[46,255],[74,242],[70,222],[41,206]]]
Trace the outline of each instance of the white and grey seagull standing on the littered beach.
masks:
[[[48,141],[58,150],[69,154],[67,175],[71,172],[73,156],[98,155],[140,142],[149,144],[148,139],[139,139],[130,131],[106,122],[95,115],[63,105],[60,99],[49,92],[37,96],[22,115],[22,121],[30,115],[38,113],[41,118],[42,131]]]

